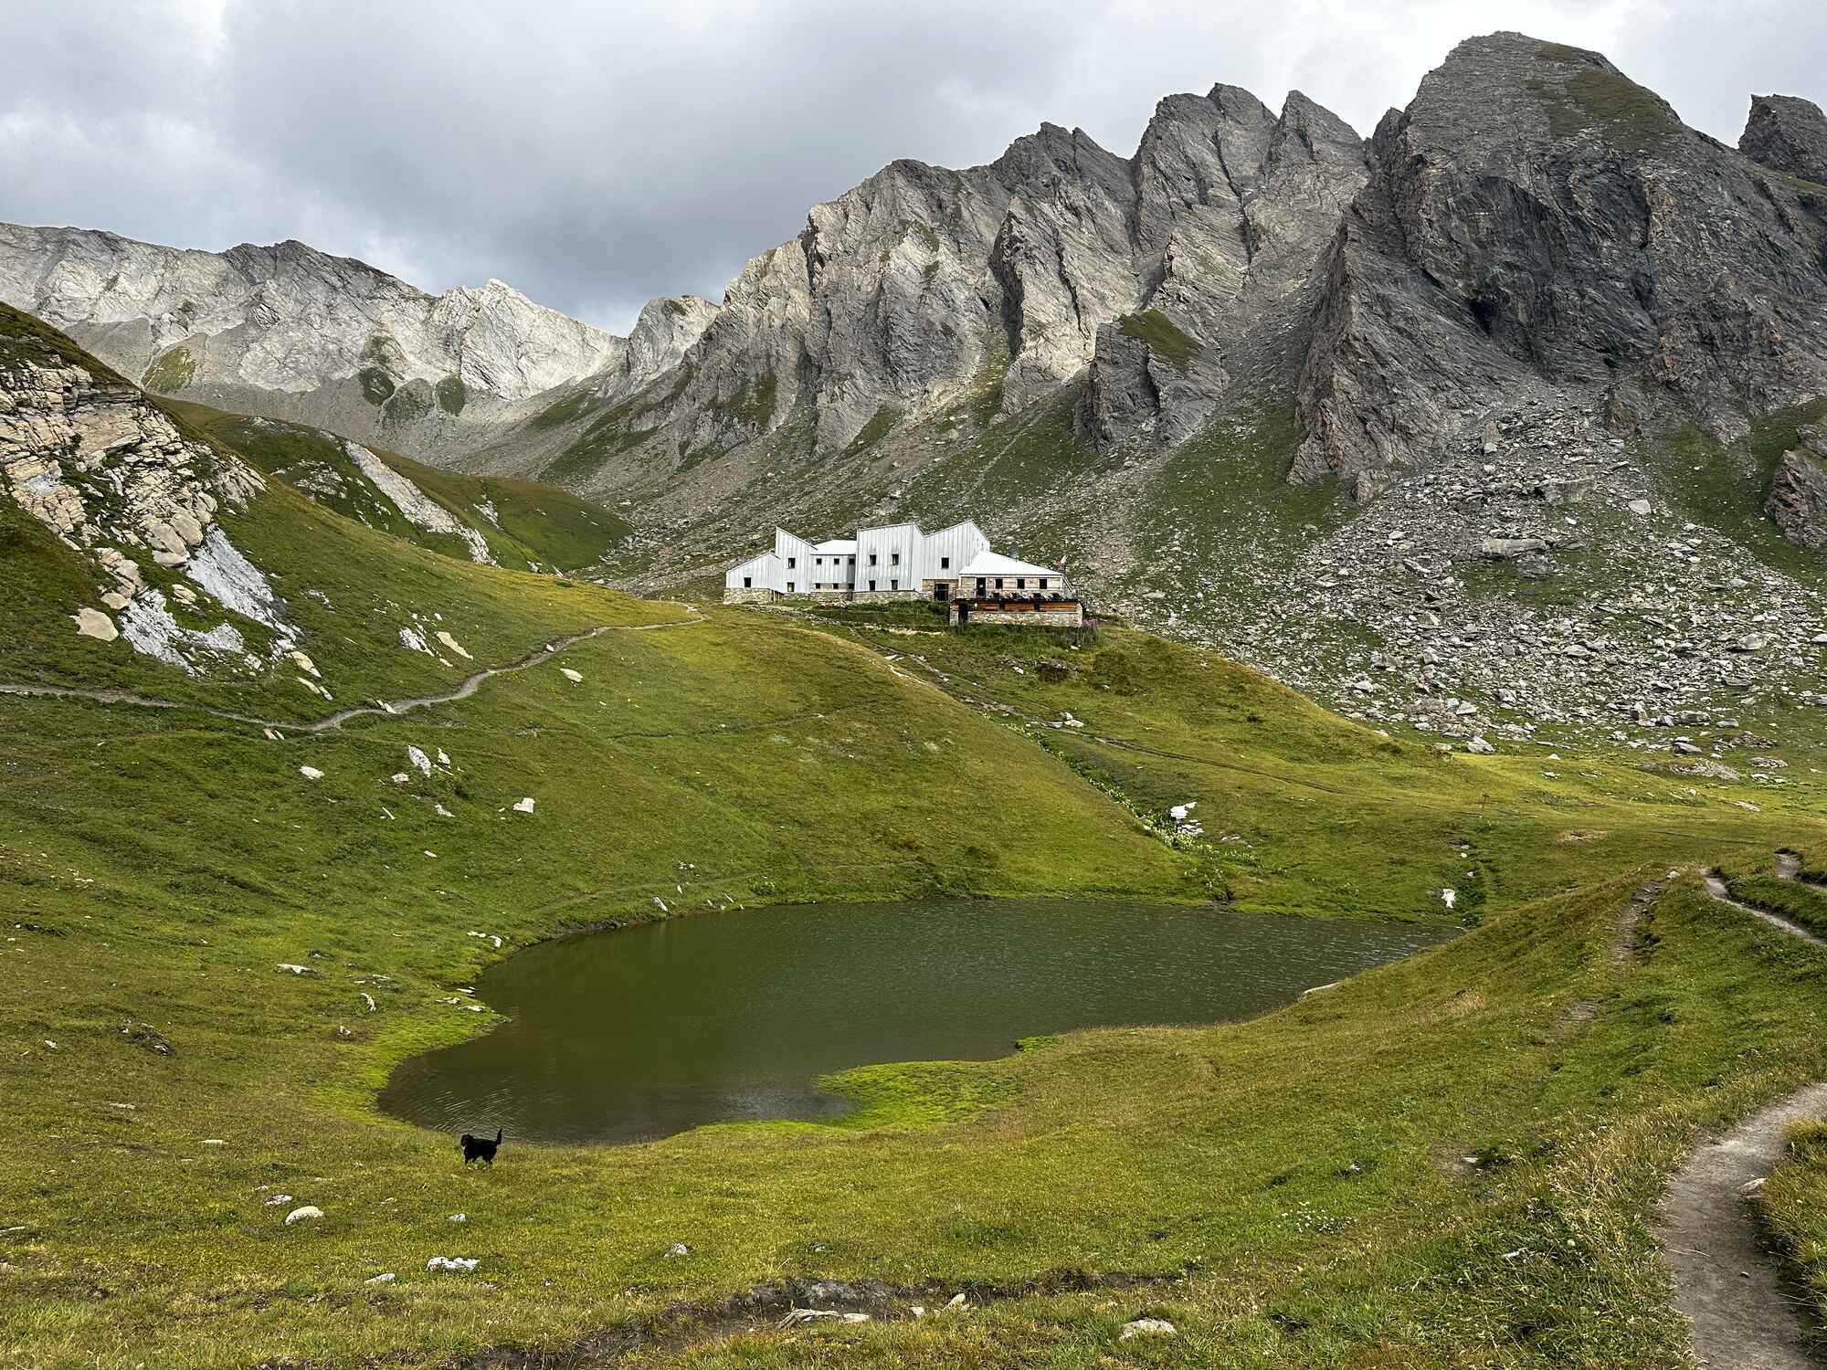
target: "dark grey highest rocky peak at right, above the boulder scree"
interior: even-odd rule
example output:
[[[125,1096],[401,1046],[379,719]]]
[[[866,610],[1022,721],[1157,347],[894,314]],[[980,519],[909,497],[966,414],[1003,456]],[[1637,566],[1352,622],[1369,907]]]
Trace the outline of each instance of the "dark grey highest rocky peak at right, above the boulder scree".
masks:
[[[1328,254],[1295,475],[1374,495],[1540,385],[1721,437],[1827,389],[1827,212],[1597,53],[1473,38],[1385,117]]]

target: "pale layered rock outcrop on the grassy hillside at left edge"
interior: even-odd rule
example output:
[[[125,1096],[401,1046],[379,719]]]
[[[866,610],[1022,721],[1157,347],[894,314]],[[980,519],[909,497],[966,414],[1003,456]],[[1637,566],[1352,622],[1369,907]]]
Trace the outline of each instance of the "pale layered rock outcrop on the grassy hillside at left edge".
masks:
[[[283,601],[217,521],[245,508],[263,477],[186,438],[133,385],[62,353],[4,305],[0,488],[91,561],[102,608],[73,612],[82,636],[124,638],[188,672],[223,659],[259,665],[245,623],[195,627],[234,610],[265,628],[272,659],[290,650]]]

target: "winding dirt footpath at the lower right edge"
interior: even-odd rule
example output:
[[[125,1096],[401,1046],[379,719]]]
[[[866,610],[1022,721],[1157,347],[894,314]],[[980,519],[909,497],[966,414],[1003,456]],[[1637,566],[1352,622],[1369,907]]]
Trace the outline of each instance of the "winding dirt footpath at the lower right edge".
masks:
[[[1708,873],[1706,893],[1774,928],[1827,948],[1805,928],[1727,895]],[[1783,1129],[1827,1114],[1827,1081],[1752,1114],[1699,1151],[1668,1186],[1657,1238],[1675,1277],[1675,1308],[1694,1328],[1694,1355],[1710,1370],[1820,1370],[1820,1330],[1758,1231],[1745,1186],[1776,1169]]]

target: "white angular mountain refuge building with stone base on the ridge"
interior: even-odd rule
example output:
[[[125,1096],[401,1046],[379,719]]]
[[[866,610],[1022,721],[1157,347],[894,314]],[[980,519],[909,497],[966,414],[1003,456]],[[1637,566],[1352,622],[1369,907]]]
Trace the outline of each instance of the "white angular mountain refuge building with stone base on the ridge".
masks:
[[[977,524],[924,532],[917,522],[859,528],[855,537],[808,543],[775,528],[773,552],[723,574],[725,605],[775,599],[952,603],[952,621],[1021,621],[1078,627],[1083,610],[1065,572],[990,550]]]

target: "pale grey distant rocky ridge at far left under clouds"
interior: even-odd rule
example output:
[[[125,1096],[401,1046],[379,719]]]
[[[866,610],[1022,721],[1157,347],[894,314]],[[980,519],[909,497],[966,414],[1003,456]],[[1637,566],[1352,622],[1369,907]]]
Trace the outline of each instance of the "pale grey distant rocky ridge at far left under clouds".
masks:
[[[0,225],[0,301],[148,389],[409,449],[585,376],[638,387],[714,312],[654,301],[614,338],[502,281],[431,296],[303,243],[216,254],[16,225]]]

